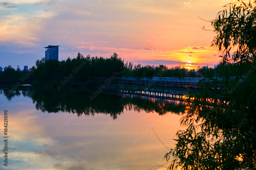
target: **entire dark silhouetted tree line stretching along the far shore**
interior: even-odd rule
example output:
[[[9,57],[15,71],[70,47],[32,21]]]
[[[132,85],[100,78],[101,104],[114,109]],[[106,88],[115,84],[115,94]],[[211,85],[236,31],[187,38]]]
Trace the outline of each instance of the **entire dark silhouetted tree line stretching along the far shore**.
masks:
[[[35,66],[25,71],[15,71],[9,65],[4,72],[0,72],[0,81],[2,83],[32,83],[33,85],[60,85],[60,82],[66,81],[68,86],[93,86],[101,83],[100,77],[109,78],[116,74],[117,77],[134,77],[141,80],[146,77],[152,80],[153,77],[175,77],[182,79],[184,77],[222,77],[223,72],[229,76],[234,76],[233,71],[239,63],[217,64],[216,68],[207,66],[198,66],[194,70],[186,70],[184,67],[167,66],[160,64],[158,66],[141,65],[132,62],[124,62],[124,59],[113,53],[110,58],[91,57],[89,54],[85,57],[78,52],[77,57],[67,60],[47,60],[42,58],[37,60]],[[205,69],[206,67],[206,69]],[[226,76],[227,74],[225,74]]]

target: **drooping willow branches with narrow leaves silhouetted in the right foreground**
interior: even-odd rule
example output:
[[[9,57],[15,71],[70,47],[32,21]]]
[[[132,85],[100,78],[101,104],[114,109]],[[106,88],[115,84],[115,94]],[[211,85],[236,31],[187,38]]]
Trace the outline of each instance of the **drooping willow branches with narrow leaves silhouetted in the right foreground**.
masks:
[[[256,1],[230,3],[212,21],[225,90],[191,94],[170,169],[256,169]],[[235,52],[233,52],[235,51]],[[232,69],[229,67],[231,61]],[[235,75],[231,78],[230,73]]]

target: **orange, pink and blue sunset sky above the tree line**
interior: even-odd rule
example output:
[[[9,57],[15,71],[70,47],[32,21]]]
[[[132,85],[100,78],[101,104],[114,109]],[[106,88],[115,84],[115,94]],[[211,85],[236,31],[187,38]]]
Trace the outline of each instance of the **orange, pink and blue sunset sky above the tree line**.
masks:
[[[214,67],[210,22],[220,0],[10,0],[0,2],[0,66],[35,65],[48,45],[59,60],[114,52],[134,64]],[[200,19],[200,18],[204,19]],[[189,64],[191,63],[191,64]]]

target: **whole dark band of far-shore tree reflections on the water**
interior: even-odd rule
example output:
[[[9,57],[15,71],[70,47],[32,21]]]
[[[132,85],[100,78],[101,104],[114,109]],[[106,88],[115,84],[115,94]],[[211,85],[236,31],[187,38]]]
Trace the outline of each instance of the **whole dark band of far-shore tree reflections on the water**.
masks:
[[[0,93],[7,94],[10,88],[0,88]],[[104,90],[95,99],[91,101],[90,96],[97,89],[84,88],[42,88],[20,86],[14,93],[9,96],[8,100],[15,96],[23,95],[33,100],[33,104],[37,110],[42,112],[69,112],[78,114],[78,116],[94,115],[94,114],[109,114],[113,119],[121,115],[124,109],[141,110],[150,112],[157,112],[159,115],[167,112],[180,113],[184,112],[185,106],[179,105],[176,101],[166,102],[164,99],[143,98],[142,95],[124,95],[121,91]]]

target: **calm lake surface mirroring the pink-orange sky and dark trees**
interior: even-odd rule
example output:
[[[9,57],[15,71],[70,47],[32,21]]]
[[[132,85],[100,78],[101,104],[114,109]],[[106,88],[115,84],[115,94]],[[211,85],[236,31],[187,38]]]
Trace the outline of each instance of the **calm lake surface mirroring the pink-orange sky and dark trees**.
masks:
[[[115,90],[91,100],[97,89],[8,89],[0,94],[2,120],[8,110],[8,167],[2,161],[0,169],[166,169],[163,156],[183,129],[178,101]]]

